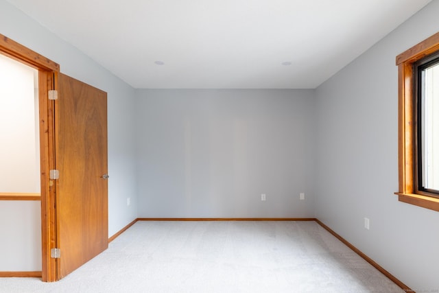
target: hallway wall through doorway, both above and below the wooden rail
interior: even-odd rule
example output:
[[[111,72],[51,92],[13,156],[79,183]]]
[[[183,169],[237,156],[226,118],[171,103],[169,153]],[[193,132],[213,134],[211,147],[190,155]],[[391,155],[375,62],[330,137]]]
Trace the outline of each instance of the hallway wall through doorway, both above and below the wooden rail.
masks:
[[[0,193],[40,194],[35,75],[0,55]],[[41,270],[40,219],[40,201],[0,200],[0,271]]]

